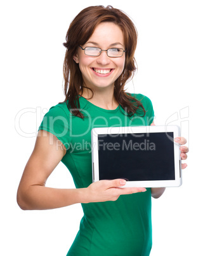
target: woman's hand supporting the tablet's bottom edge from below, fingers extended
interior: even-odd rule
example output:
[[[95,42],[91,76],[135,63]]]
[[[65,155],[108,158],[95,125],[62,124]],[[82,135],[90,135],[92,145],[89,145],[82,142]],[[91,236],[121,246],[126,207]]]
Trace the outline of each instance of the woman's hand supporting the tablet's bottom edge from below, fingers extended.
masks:
[[[84,203],[116,201],[121,195],[146,191],[146,188],[121,188],[125,184],[126,180],[122,179],[100,180],[91,183],[91,185],[86,188],[86,201]]]

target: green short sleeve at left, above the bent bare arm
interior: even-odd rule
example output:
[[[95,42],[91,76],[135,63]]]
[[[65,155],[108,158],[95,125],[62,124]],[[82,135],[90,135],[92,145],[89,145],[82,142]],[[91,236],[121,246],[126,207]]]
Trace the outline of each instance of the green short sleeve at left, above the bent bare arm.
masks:
[[[54,134],[66,149],[70,145],[70,136],[69,136],[69,119],[65,110],[58,104],[52,106],[48,113],[44,115],[43,121],[39,126],[39,130],[45,130]]]

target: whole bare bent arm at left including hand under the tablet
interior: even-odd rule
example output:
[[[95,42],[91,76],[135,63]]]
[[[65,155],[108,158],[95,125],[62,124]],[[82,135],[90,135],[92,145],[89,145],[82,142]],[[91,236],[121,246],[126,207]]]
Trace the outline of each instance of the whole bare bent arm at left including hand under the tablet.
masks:
[[[145,188],[121,188],[126,183],[121,179],[97,181],[88,188],[45,187],[46,180],[65,153],[65,147],[56,136],[39,131],[18,187],[17,202],[22,210],[48,210],[75,203],[115,201],[123,194],[146,191]]]

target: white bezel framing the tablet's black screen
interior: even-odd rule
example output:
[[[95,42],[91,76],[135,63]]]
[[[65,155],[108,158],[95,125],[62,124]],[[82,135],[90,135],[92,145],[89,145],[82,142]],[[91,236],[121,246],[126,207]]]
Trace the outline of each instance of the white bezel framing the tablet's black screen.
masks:
[[[98,134],[173,132],[174,138],[180,137],[178,125],[150,125],[129,127],[96,127],[91,130],[91,154],[93,182],[99,180]],[[172,138],[169,138],[172,139]],[[174,140],[173,140],[174,142]],[[174,180],[127,181],[123,187],[179,187],[182,183],[180,145],[174,142]]]

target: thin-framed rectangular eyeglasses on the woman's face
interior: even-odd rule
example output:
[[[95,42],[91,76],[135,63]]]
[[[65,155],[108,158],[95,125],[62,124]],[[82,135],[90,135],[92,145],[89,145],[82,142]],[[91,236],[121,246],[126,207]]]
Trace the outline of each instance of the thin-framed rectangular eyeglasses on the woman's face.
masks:
[[[79,45],[79,47],[81,46]],[[84,54],[88,56],[100,56],[101,52],[107,52],[107,56],[112,58],[122,57],[123,53],[126,52],[126,50],[123,50],[122,48],[101,50],[101,48],[98,47],[81,47],[81,49],[84,50]]]

